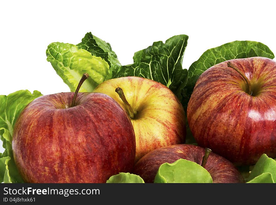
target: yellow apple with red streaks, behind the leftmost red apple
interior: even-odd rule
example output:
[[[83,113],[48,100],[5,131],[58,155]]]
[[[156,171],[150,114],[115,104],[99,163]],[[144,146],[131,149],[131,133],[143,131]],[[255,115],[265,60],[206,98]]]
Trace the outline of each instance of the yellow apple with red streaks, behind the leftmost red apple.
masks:
[[[106,80],[94,92],[111,96],[128,112],[136,137],[136,161],[158,147],[185,141],[183,107],[165,85],[131,76]]]

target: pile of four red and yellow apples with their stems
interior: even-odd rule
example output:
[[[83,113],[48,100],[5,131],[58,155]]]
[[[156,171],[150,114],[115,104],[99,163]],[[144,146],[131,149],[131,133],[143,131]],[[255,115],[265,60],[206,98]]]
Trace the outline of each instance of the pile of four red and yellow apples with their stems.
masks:
[[[32,183],[105,183],[119,172],[153,182],[161,164],[180,158],[204,166],[213,182],[243,182],[236,165],[252,165],[263,153],[276,157],[275,69],[263,57],[207,69],[187,109],[198,146],[184,144],[186,115],[165,85],[121,77],[78,93],[84,74],[75,93],[41,96],[21,112],[14,160]]]

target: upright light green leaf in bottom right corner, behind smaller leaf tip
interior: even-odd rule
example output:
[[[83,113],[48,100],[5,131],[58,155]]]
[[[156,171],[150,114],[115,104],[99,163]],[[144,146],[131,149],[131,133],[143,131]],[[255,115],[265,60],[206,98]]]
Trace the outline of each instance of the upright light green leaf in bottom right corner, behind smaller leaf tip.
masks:
[[[270,173],[273,181],[276,182],[276,161],[268,157],[266,154],[263,154],[259,158],[253,167],[248,180],[250,181],[259,175],[262,175],[263,173]],[[267,179],[267,177],[265,179]]]

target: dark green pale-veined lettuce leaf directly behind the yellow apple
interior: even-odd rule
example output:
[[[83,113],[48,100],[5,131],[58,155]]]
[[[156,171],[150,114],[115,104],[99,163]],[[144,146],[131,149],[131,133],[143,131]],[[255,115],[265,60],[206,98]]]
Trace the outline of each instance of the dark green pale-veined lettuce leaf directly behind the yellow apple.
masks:
[[[139,76],[155,80],[170,88],[182,100],[181,90],[186,84],[188,71],[182,68],[187,35],[177,35],[157,41],[134,54],[134,63],[113,69],[112,78]]]

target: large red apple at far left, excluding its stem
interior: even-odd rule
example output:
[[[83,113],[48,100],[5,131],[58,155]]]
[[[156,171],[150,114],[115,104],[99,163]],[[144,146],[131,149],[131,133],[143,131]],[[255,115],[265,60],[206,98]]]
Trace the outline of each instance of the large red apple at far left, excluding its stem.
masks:
[[[16,121],[13,156],[25,182],[105,183],[132,169],[135,135],[125,110],[101,93],[79,93],[70,107],[73,95],[41,96]]]

